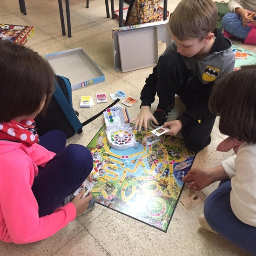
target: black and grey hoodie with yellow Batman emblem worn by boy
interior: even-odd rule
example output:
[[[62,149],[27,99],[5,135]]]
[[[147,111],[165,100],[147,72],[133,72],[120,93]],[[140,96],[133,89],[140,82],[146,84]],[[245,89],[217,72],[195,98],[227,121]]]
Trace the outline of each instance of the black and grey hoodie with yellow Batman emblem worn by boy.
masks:
[[[199,123],[213,116],[209,111],[208,101],[214,80],[234,70],[235,55],[231,49],[231,41],[225,38],[217,28],[214,34],[215,42],[206,57],[196,60],[195,57],[180,55],[191,74],[185,89],[182,87],[182,91],[177,92],[186,105],[186,111],[178,118],[182,121],[182,127]],[[162,55],[168,53],[178,54],[174,41],[168,45]],[[141,91],[141,106],[150,107],[155,101],[156,83],[157,67],[154,67],[153,73],[148,76]]]

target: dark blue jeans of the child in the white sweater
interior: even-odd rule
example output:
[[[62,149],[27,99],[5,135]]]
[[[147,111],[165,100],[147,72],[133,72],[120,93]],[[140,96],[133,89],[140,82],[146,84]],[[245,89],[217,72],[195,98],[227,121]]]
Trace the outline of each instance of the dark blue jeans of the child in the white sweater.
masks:
[[[231,181],[223,180],[204,203],[204,216],[210,227],[240,248],[256,255],[256,227],[241,222],[230,206]]]

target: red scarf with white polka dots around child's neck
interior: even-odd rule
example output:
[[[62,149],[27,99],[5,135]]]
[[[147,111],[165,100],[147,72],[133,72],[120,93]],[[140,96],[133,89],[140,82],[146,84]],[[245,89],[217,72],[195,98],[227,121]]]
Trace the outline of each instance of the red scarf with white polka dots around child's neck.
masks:
[[[30,147],[39,141],[34,120],[23,120],[20,123],[14,120],[1,122],[0,140],[19,141]]]

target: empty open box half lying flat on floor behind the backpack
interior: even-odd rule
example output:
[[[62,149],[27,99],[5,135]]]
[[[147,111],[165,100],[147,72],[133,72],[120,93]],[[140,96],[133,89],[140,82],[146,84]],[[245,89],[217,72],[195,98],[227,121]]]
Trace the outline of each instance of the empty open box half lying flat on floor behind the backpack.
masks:
[[[45,55],[55,73],[70,80],[72,90],[105,81],[105,75],[81,48]]]

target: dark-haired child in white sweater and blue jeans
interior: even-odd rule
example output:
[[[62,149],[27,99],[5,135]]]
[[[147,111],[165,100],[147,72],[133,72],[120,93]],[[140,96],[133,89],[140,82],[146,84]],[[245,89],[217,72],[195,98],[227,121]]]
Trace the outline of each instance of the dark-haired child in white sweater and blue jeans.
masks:
[[[236,154],[216,167],[191,169],[183,181],[197,191],[221,181],[206,199],[199,223],[255,255],[256,65],[244,66],[218,80],[209,108],[220,116],[220,132],[229,135],[217,149],[233,148]]]

